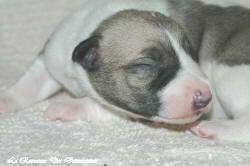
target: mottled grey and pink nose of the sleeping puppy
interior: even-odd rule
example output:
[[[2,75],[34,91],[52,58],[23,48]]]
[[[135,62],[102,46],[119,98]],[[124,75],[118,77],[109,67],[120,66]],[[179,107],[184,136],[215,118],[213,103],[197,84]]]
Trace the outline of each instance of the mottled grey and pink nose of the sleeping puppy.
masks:
[[[201,108],[206,107],[212,99],[212,94],[208,90],[206,92],[202,92],[201,90],[196,90],[194,93],[194,109],[199,110]]]

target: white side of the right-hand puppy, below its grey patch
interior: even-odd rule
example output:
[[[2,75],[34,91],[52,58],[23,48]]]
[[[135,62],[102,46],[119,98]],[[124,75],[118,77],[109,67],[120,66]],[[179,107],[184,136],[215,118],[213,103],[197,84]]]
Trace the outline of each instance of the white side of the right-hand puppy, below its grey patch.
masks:
[[[211,78],[226,114],[241,118],[250,114],[250,66],[217,65]]]

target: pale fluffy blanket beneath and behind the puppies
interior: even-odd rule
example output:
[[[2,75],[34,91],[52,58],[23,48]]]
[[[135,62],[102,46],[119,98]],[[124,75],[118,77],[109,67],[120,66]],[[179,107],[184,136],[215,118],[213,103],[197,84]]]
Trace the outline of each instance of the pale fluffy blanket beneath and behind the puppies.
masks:
[[[84,0],[0,0],[0,90],[27,69],[55,26]],[[66,94],[61,95],[67,98]],[[65,97],[66,96],[66,97]],[[0,117],[0,163],[7,160],[96,159],[108,166],[250,165],[250,143],[214,141],[164,126],[119,120],[107,123],[50,122],[50,101]],[[60,163],[60,162],[59,162]],[[30,165],[54,165],[47,164]],[[55,165],[67,164],[62,161]]]

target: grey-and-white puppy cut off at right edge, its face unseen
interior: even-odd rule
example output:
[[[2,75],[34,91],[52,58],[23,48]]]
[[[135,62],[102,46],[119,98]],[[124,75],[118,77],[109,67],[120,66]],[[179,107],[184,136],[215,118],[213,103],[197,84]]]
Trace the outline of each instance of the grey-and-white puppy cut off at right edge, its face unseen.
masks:
[[[168,6],[199,53],[214,94],[212,121],[202,121],[193,132],[250,141],[250,10],[195,0],[168,0]]]

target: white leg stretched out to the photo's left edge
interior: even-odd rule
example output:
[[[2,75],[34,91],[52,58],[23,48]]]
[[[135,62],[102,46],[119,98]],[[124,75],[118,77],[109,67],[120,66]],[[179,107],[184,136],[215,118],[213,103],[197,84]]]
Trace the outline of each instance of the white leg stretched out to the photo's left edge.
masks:
[[[0,95],[0,113],[29,107],[59,89],[61,85],[50,76],[39,56],[14,86]]]

